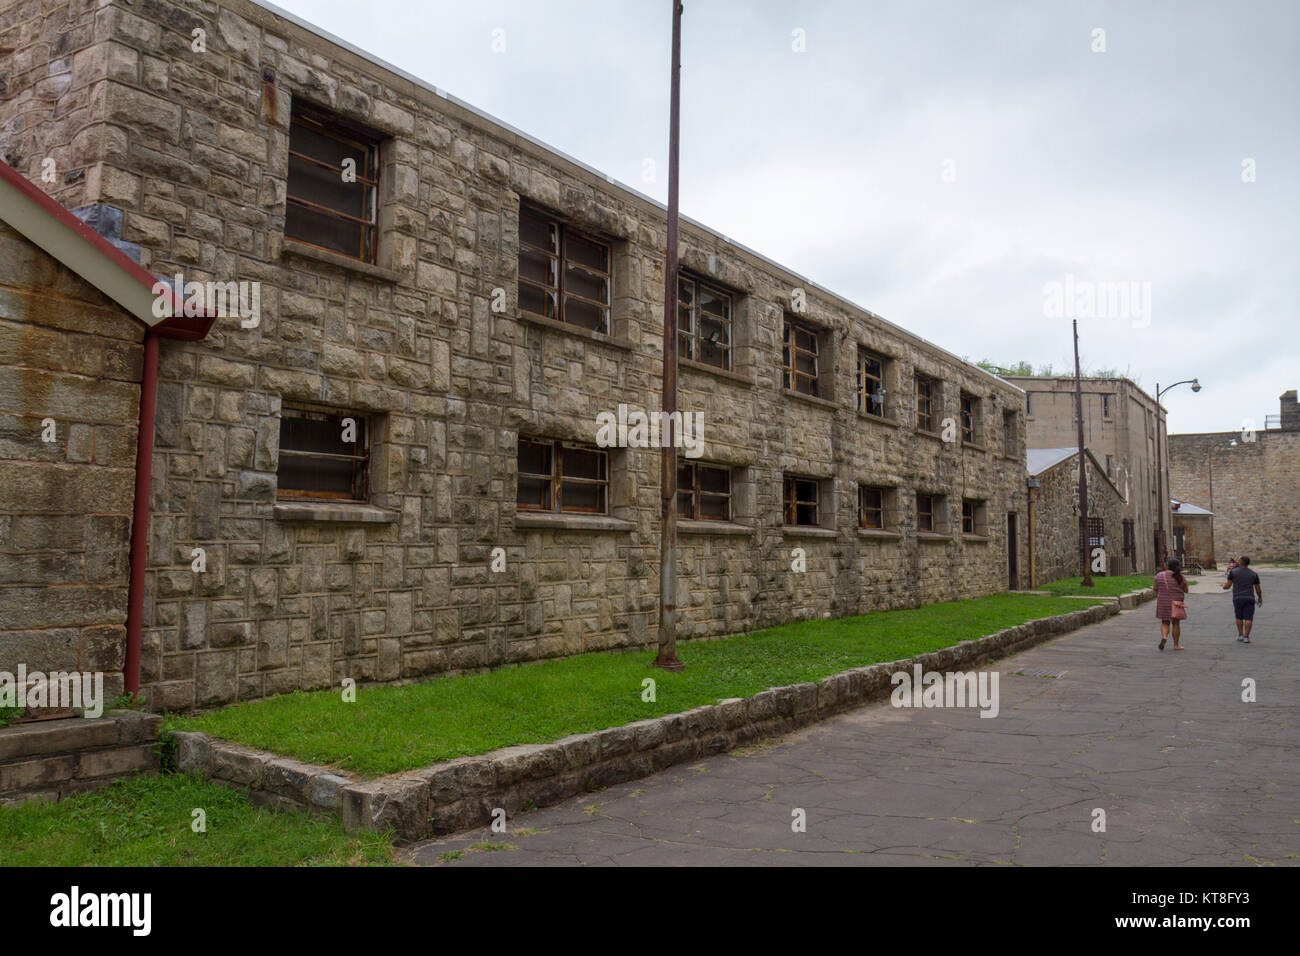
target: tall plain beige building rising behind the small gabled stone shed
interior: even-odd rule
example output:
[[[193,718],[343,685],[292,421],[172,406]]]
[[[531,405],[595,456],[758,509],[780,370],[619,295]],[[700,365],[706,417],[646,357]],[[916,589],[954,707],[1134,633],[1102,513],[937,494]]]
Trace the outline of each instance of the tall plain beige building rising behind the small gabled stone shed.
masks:
[[[1024,389],[1027,442],[1031,449],[1074,447],[1079,441],[1071,376],[1009,376]],[[1083,442],[1101,462],[1104,473],[1124,499],[1127,525],[1115,531],[1121,550],[1112,574],[1156,572],[1157,501],[1156,429],[1161,429],[1161,457],[1169,451],[1165,410],[1128,378],[1083,380]],[[1171,494],[1167,475],[1165,497]],[[1170,515],[1165,511],[1166,537]],[[1075,572],[1078,574],[1078,572]]]

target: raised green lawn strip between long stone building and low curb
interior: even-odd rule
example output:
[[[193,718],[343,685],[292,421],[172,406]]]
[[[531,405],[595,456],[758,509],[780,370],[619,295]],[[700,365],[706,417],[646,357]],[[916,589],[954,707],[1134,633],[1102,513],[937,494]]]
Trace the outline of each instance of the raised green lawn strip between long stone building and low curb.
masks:
[[[679,645],[682,672],[650,666],[646,650],[590,653],[404,687],[298,692],[190,718],[194,730],[244,747],[354,771],[415,770],[514,744],[538,744],[663,717],[768,687],[818,680],[982,637],[1086,602],[1034,594],[989,597],[807,620],[718,641]],[[656,682],[642,700],[642,680]]]

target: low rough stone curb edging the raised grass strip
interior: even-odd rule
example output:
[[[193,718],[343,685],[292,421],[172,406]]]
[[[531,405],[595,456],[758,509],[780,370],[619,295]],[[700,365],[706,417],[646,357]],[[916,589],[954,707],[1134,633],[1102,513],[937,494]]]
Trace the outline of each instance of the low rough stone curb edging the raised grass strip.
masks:
[[[904,661],[853,667],[815,683],[774,687],[753,697],[370,780],[194,731],[174,734],[177,769],[246,790],[263,806],[338,816],[348,830],[391,830],[415,840],[485,825],[497,808],[512,816],[525,806],[546,806],[786,734],[888,696],[896,671],[910,671],[914,665],[924,671],[950,671],[1008,657],[1095,624],[1118,614],[1119,607],[1121,602],[1108,601]]]

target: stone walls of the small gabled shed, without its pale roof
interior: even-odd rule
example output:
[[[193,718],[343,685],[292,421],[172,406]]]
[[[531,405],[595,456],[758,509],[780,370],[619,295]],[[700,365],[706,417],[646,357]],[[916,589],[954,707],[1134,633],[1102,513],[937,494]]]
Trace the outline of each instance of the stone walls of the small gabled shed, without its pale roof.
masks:
[[[1105,529],[1109,574],[1131,574],[1123,554],[1123,519],[1119,490],[1088,458],[1088,516],[1100,515]],[[1034,502],[1034,548],[1037,584],[1079,576],[1079,459],[1067,458],[1037,476]]]

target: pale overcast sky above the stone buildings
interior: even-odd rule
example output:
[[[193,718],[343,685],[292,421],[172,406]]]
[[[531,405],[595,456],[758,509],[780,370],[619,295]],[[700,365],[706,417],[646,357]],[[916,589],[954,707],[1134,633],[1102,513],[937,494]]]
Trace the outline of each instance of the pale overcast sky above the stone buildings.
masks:
[[[670,0],[280,5],[667,198]],[[1136,284],[1083,360],[1200,377],[1170,432],[1300,385],[1300,3],[685,0],[682,38],[682,215],[971,360],[1069,368],[1048,284]]]

